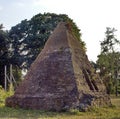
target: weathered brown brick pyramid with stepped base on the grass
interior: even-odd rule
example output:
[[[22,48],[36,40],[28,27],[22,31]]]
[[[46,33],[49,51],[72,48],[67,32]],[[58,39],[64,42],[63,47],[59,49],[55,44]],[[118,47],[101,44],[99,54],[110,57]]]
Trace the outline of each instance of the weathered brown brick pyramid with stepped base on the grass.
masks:
[[[60,22],[6,106],[63,111],[110,104],[80,42]]]

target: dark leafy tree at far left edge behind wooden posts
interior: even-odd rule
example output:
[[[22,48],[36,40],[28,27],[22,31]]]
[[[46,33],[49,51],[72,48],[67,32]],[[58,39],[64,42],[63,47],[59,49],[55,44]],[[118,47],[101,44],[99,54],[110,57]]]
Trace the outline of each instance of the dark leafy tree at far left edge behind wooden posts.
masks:
[[[19,69],[12,57],[12,43],[8,36],[8,31],[3,30],[3,25],[0,25],[0,85],[4,87],[4,67],[7,66],[9,74],[10,64],[13,65],[13,75],[16,81],[21,79],[21,69]]]

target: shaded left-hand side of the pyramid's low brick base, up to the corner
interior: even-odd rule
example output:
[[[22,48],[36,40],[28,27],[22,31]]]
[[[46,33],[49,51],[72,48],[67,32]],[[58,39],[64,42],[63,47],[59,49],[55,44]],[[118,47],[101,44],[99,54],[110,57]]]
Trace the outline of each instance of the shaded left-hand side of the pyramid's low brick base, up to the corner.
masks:
[[[65,103],[67,102],[67,103]],[[68,103],[73,102],[73,100],[64,100],[61,98],[40,98],[40,97],[9,97],[6,99],[6,106],[8,107],[20,107],[24,109],[37,109],[44,111],[67,111],[70,108],[77,107],[78,103]]]

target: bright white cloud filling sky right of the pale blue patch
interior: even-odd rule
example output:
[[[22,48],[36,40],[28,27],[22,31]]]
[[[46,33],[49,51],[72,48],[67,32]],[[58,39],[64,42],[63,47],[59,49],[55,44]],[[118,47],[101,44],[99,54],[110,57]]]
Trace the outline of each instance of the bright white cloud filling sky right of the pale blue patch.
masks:
[[[44,8],[44,12],[69,15],[81,29],[87,54],[93,61],[100,53],[105,28],[120,26],[119,0],[33,0],[33,3],[36,9]]]

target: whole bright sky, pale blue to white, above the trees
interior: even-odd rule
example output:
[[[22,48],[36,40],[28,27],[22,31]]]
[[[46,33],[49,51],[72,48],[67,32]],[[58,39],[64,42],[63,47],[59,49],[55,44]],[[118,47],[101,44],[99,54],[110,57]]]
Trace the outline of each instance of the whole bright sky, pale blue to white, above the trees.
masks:
[[[0,24],[9,30],[38,13],[67,14],[81,29],[89,60],[96,61],[106,27],[120,39],[120,0],[0,0]],[[118,49],[118,48],[117,48]]]

